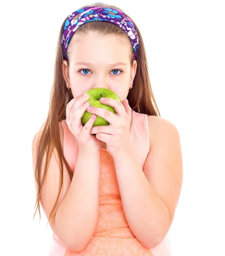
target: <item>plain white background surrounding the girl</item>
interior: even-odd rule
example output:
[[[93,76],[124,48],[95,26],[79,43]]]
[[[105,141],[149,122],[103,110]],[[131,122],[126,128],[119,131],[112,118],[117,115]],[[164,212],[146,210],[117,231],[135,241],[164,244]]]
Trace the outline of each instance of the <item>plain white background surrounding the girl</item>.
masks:
[[[38,212],[33,221],[31,141],[47,116],[60,26],[88,3],[77,2],[1,5],[0,255],[49,255],[52,232],[42,209],[40,223]],[[184,177],[171,255],[225,255],[223,1],[106,3],[139,27],[161,117],[179,130]]]

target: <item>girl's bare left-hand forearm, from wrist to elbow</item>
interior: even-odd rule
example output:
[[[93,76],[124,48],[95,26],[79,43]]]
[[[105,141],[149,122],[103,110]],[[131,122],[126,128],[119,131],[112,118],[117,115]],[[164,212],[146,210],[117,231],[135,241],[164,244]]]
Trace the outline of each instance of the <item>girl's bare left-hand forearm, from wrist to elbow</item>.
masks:
[[[79,151],[68,192],[53,230],[69,250],[82,251],[94,234],[99,213],[100,154]]]

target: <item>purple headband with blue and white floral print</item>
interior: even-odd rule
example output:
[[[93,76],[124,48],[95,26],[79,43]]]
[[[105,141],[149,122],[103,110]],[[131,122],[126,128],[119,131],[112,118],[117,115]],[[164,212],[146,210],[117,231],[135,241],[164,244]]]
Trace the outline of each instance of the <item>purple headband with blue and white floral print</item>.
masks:
[[[105,7],[105,8],[104,8]],[[107,8],[107,6],[91,6],[71,13],[65,22],[61,44],[63,59],[67,60],[67,46],[74,32],[80,25],[90,21],[107,21],[123,29],[131,40],[134,48],[134,59],[137,58],[138,35],[134,23],[121,11]]]

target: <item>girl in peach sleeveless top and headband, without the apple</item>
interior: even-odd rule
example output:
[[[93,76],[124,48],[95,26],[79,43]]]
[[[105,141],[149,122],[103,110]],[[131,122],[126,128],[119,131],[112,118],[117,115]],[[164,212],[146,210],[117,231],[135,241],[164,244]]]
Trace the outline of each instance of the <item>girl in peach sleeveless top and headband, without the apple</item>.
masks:
[[[83,94],[98,87],[120,97],[102,101],[116,114],[88,108]],[[176,127],[152,100],[157,106],[131,17],[103,3],[66,17],[48,116],[32,141],[35,206],[53,231],[50,256],[171,255],[182,155]],[[85,111],[92,116],[83,126]],[[93,126],[96,116],[109,125]]]

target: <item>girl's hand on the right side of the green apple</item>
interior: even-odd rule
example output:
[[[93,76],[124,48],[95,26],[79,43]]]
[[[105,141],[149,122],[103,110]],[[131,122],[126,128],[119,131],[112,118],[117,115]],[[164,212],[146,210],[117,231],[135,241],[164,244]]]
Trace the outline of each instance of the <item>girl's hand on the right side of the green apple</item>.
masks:
[[[102,98],[101,98],[102,99]],[[105,98],[101,103],[114,108],[116,114],[103,108],[92,107],[89,113],[103,117],[109,125],[93,126],[90,134],[96,134],[96,138],[106,143],[106,149],[112,157],[116,157],[131,148],[130,122],[131,107],[127,99],[122,103],[116,99]]]

